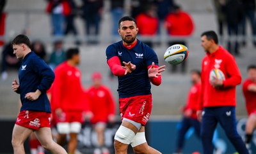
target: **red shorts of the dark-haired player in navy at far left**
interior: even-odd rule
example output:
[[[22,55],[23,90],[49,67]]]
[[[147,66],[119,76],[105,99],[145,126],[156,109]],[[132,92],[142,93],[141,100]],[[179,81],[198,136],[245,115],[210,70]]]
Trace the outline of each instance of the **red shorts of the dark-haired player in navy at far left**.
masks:
[[[15,124],[33,130],[41,127],[51,127],[51,113],[42,111],[20,111]]]

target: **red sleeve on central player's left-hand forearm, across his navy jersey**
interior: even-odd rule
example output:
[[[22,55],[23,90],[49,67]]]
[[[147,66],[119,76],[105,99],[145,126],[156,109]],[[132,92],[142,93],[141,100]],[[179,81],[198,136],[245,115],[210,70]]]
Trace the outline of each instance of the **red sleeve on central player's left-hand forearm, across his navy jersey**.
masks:
[[[124,76],[125,69],[121,66],[121,62],[117,56],[108,60],[108,66],[115,76]]]

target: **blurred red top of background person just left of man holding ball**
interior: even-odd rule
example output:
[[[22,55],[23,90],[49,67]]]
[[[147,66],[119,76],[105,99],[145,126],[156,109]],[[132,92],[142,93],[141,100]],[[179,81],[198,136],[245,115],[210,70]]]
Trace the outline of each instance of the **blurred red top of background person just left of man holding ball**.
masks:
[[[196,83],[189,89],[188,99],[184,111],[187,109],[192,110],[191,118],[197,119],[196,110],[200,104],[200,95],[201,95],[201,83]]]

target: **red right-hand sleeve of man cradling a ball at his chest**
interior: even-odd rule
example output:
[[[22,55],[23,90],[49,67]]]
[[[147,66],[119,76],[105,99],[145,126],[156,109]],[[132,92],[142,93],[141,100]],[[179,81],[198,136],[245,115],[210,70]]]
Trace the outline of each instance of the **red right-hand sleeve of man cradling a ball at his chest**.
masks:
[[[239,85],[242,81],[242,77],[234,57],[227,57],[225,69],[227,70],[227,75],[230,77],[223,81],[223,87]]]

